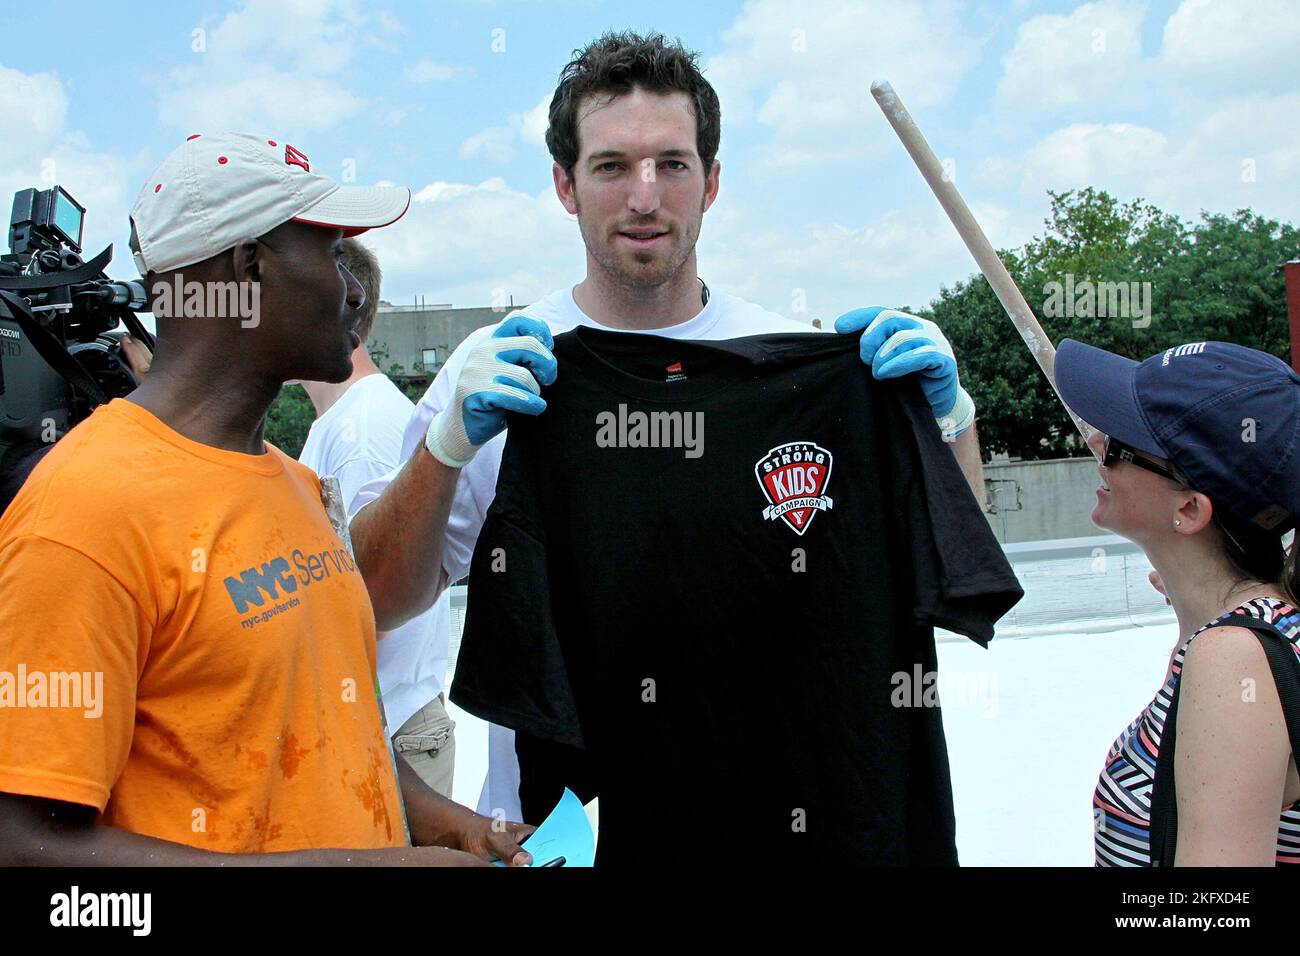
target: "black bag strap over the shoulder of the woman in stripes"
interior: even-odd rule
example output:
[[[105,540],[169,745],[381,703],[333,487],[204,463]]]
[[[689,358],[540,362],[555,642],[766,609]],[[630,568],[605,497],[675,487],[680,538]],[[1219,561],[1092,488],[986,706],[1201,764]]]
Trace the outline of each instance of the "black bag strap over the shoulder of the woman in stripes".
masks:
[[[1300,754],[1300,661],[1290,641],[1273,624],[1248,614],[1234,614],[1218,620],[1214,627],[1244,627],[1253,631],[1269,658],[1269,670],[1278,687],[1282,715],[1287,722],[1291,753]],[[1174,787],[1174,741],[1178,739],[1178,688],[1169,704],[1165,728],[1160,736],[1160,756],[1156,758],[1156,779],[1150,792],[1150,865],[1173,866],[1178,845],[1178,793]],[[1297,757],[1300,760],[1300,757]]]

